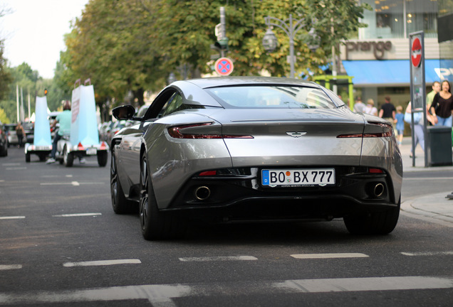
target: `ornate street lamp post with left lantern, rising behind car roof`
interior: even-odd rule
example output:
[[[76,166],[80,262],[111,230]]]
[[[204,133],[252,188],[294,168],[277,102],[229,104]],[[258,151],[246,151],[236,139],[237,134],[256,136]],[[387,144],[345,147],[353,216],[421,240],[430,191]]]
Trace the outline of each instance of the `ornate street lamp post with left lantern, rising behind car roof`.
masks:
[[[264,49],[268,52],[272,52],[276,48],[276,36],[271,30],[271,26],[277,26],[278,28],[281,28],[283,31],[285,31],[286,35],[289,38],[289,65],[291,67],[291,72],[290,72],[290,77],[294,77],[294,36],[296,35],[297,31],[299,31],[301,28],[306,26],[306,23],[304,23],[305,18],[301,19],[293,19],[292,14],[289,14],[289,18],[282,21],[281,19],[267,16],[264,18],[264,21],[266,21],[266,26],[268,26],[268,29],[266,31],[266,34],[263,38],[263,46]]]

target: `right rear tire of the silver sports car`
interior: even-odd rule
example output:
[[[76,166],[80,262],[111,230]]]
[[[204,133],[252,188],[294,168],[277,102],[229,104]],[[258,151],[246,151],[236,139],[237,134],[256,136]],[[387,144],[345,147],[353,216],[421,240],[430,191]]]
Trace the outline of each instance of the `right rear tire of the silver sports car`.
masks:
[[[346,228],[353,235],[387,235],[392,232],[400,217],[401,197],[395,208],[382,212],[344,217]]]

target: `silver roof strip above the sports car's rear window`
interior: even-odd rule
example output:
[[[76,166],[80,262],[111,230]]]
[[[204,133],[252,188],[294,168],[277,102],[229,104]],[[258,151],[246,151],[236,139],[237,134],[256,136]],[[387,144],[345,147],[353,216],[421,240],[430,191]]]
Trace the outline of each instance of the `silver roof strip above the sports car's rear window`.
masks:
[[[186,82],[193,83],[203,89],[234,85],[297,85],[319,87],[319,85],[314,82],[286,77],[207,77],[187,80]]]

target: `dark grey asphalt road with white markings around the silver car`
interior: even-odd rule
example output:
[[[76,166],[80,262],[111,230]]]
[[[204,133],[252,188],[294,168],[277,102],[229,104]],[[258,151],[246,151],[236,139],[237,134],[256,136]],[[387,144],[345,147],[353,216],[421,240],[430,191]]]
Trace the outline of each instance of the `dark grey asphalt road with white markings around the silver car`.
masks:
[[[87,160],[0,158],[0,306],[452,305],[453,227],[403,213],[386,236],[334,220],[196,225],[147,242],[137,215],[111,209],[108,166]],[[407,174],[402,201],[450,177]]]

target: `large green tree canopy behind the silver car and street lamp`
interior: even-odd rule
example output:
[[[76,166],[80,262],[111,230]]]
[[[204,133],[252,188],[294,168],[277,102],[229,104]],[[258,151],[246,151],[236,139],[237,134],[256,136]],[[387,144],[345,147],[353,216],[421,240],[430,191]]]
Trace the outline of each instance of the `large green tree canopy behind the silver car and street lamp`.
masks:
[[[90,78],[101,108],[107,100],[122,104],[128,92],[142,104],[145,90],[160,90],[170,72],[179,79],[212,73],[216,51],[210,45],[220,6],[226,11],[232,75],[266,70],[274,76],[288,75],[289,40],[274,28],[278,50],[266,53],[265,16],[303,19],[295,39],[296,72],[309,75],[322,73],[319,67],[330,63],[332,46],[362,26],[358,18],[366,9],[357,0],[91,0],[66,36],[67,51],[54,78],[59,95],[71,95],[76,79]],[[315,53],[308,48],[312,27],[321,38]]]

